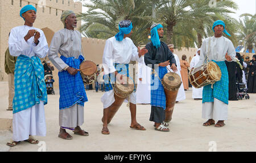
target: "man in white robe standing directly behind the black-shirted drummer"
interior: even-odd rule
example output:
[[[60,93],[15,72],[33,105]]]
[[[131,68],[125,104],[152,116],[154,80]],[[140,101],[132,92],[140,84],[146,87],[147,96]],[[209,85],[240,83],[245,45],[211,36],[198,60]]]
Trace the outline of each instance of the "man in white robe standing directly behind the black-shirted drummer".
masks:
[[[168,45],[168,48],[171,50],[172,54],[174,54],[174,45],[173,44]],[[180,79],[181,79],[181,82],[182,82],[182,78],[181,78],[181,74],[180,74],[180,71],[181,71],[180,59],[179,59],[179,57],[176,54],[174,54],[174,58],[175,58],[176,65],[177,65],[177,72],[175,72],[175,73],[180,76]],[[174,72],[171,69],[170,65],[167,66],[167,67],[169,68],[169,70],[171,70],[171,72]],[[185,94],[185,90],[184,90],[184,85],[183,85],[183,83],[181,83],[179,91],[178,91],[178,94],[177,94],[176,102],[183,101],[185,99],[186,99],[186,94]]]

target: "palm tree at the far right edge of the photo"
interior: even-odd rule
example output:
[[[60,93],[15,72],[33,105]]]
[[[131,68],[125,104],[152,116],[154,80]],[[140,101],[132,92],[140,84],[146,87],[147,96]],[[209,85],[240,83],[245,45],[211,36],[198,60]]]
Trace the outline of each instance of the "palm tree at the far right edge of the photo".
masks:
[[[238,38],[242,41],[242,44],[245,46],[245,52],[248,49],[249,53],[255,51],[255,41],[256,41],[256,23],[255,15],[242,14],[240,17]]]

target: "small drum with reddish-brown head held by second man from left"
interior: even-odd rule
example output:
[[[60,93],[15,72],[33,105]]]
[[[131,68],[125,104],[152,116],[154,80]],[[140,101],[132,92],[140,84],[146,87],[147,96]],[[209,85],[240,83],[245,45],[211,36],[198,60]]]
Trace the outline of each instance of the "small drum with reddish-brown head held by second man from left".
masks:
[[[85,85],[93,84],[96,80],[97,66],[92,61],[84,61],[80,65],[82,81]]]

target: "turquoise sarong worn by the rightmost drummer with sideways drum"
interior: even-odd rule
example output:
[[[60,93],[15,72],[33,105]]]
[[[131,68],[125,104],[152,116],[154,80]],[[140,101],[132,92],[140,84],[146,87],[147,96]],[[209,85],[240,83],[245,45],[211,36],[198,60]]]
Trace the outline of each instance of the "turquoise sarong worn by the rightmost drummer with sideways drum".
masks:
[[[224,102],[225,104],[229,104],[229,74],[228,69],[226,68],[226,63],[216,62],[218,67],[221,69],[221,80],[217,81],[212,85],[205,85],[203,89],[203,104],[205,102],[214,102],[214,98]]]

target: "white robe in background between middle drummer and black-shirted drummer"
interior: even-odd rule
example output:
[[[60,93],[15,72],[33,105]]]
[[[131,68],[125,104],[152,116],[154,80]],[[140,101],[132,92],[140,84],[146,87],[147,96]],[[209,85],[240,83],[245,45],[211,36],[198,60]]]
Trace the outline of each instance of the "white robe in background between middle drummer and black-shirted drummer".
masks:
[[[137,104],[150,104],[151,102],[151,68],[143,62],[138,63],[138,85],[136,90]]]

